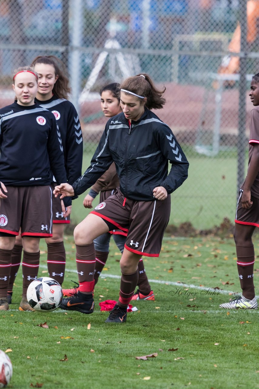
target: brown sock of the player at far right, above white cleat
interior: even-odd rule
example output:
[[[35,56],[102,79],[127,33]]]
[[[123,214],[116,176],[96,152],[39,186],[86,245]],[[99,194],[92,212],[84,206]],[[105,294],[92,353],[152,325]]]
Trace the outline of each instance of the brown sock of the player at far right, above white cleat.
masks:
[[[248,300],[255,296],[254,291],[254,245],[236,246],[237,269],[242,295]]]

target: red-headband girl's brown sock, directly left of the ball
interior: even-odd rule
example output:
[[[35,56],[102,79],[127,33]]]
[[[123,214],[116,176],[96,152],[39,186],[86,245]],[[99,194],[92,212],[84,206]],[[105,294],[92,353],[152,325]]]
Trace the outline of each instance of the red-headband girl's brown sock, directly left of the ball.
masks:
[[[40,252],[27,252],[23,250],[23,297],[26,298],[28,286],[37,279],[40,265]]]

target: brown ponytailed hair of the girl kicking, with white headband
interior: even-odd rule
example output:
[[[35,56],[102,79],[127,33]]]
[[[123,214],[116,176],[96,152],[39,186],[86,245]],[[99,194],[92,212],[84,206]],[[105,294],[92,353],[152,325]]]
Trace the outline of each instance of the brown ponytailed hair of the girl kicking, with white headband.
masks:
[[[120,84],[120,89],[146,97],[146,107],[148,109],[161,109],[166,102],[165,98],[162,97],[165,93],[165,86],[163,86],[162,90],[157,89],[149,75],[145,73],[128,77]],[[127,94],[127,92],[124,93]],[[139,100],[143,102],[143,99],[139,98]]]

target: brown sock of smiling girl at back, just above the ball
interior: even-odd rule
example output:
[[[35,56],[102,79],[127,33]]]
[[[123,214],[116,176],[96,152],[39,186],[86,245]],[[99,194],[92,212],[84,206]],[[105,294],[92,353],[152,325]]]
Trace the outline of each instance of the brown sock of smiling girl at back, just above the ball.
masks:
[[[48,243],[47,248],[47,265],[49,276],[54,278],[54,280],[62,285],[66,266],[66,251],[64,242]]]

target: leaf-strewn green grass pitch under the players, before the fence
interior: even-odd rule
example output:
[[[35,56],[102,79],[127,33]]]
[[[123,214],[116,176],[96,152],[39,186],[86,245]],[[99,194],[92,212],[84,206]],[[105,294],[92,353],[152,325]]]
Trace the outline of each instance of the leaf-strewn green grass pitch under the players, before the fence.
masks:
[[[63,286],[71,287],[71,280],[77,280],[71,237],[65,246]],[[45,250],[42,240],[39,276],[47,275]],[[165,237],[160,257],[144,258],[156,300],[136,301],[138,310],[128,314],[127,322],[108,324],[108,312],[101,312],[98,303],[118,298],[119,260],[112,242],[91,315],[59,308],[20,312],[19,271],[10,310],[0,314],[0,349],[12,350],[10,388],[259,387],[259,311],[219,308],[240,291],[233,239]],[[258,267],[256,259],[257,293]],[[45,322],[49,328],[38,326]],[[136,359],[149,354],[156,356]]]

